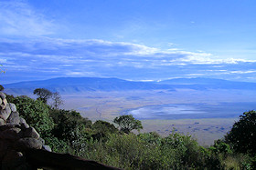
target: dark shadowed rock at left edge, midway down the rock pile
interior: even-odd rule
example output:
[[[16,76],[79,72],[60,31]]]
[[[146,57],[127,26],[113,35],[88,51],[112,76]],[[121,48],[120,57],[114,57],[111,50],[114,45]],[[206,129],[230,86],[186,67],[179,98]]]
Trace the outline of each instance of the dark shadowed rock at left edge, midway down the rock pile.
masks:
[[[22,136],[21,129],[17,127],[6,129],[5,131],[0,132],[0,139],[8,139],[8,140],[15,141],[21,138],[21,136]]]

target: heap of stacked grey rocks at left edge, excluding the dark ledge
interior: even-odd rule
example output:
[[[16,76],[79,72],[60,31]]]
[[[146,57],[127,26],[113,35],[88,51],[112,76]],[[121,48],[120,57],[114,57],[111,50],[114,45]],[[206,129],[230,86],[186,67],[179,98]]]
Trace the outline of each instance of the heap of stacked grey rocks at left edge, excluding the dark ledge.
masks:
[[[6,95],[0,92],[0,170],[28,169],[28,149],[50,151],[36,129],[19,116],[16,105],[7,103]]]

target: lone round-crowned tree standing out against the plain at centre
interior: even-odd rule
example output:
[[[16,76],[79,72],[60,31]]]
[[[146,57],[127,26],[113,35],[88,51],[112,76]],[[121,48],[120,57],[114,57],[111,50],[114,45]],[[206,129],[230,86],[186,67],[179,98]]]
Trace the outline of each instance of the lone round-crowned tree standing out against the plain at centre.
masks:
[[[133,115],[120,115],[115,117],[113,122],[119,125],[120,130],[126,134],[130,134],[132,130],[140,130],[143,129],[142,122],[135,119]]]

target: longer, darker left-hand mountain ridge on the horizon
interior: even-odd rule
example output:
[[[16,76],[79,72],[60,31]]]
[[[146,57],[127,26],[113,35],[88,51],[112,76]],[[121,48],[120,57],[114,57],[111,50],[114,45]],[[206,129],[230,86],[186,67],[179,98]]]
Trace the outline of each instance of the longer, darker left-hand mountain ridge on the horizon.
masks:
[[[80,93],[83,91],[125,91],[125,90],[174,90],[170,85],[155,83],[126,81],[118,78],[98,77],[60,77],[41,81],[19,82],[6,84],[5,90],[17,93],[18,91],[33,91],[35,88],[48,88],[60,93]]]

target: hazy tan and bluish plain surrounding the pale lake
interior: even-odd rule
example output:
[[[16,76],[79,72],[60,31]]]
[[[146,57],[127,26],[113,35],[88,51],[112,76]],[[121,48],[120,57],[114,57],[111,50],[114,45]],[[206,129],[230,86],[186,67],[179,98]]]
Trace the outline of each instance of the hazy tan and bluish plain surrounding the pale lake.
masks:
[[[191,90],[176,89],[176,91],[118,91],[118,92],[87,92],[76,95],[62,95],[65,101],[64,108],[74,109],[84,117],[92,121],[98,119],[112,122],[112,120],[129,110],[137,109],[148,105],[211,105],[218,107],[223,103],[227,104],[227,110],[241,115],[242,112],[254,109],[248,108],[256,96],[246,90]],[[235,105],[229,105],[235,104]],[[241,104],[240,107],[236,107]],[[228,108],[234,107],[234,108]],[[190,134],[197,138],[200,145],[211,145],[214,140],[223,137],[239,117],[225,114],[223,116],[209,118],[187,119],[142,119],[144,130],[142,132],[155,131],[160,135],[169,135],[175,128],[176,131]],[[228,113],[228,112],[227,112]]]

